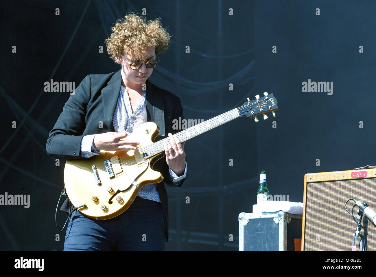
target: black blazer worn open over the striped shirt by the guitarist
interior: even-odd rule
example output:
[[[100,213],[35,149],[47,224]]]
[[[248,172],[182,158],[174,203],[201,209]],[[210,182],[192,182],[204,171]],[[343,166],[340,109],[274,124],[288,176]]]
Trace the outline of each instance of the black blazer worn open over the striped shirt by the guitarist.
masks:
[[[50,157],[59,159],[84,159],[80,156],[81,139],[85,135],[115,132],[112,117],[115,112],[121,86],[121,70],[109,74],[92,74],[83,79],[64,105],[55,126],[47,139],[46,150]],[[168,133],[177,133],[180,130],[172,129],[173,119],[183,119],[183,107],[179,97],[163,90],[149,80],[146,81],[147,121],[155,122],[153,113],[153,99],[163,97],[165,136],[157,136],[155,141],[165,138]],[[103,122],[102,128],[100,121]],[[180,121],[179,121],[180,122]],[[166,158],[159,159],[153,167],[164,176],[163,182],[157,184],[162,212],[165,222],[165,231],[168,241],[168,200],[167,191],[163,183],[170,187],[177,187],[168,171]],[[178,185],[182,186],[184,179]],[[61,210],[69,211],[68,199]],[[125,211],[126,212],[126,211]]]

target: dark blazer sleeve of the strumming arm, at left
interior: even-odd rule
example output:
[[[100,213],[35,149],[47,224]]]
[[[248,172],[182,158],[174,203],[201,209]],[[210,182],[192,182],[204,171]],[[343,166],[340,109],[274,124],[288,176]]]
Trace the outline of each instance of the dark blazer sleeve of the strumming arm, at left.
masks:
[[[91,96],[91,77],[86,76],[74,91],[47,139],[47,154],[59,159],[82,159],[81,140],[85,130],[86,107]]]

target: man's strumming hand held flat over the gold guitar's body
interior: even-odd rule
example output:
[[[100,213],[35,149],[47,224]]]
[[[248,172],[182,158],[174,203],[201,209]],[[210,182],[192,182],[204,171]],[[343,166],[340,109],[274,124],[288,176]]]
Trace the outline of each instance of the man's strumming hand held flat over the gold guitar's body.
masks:
[[[122,133],[102,133],[94,136],[93,144],[97,151],[119,151],[119,150],[136,150],[132,145],[137,145],[137,141],[121,140],[127,137],[127,132]]]

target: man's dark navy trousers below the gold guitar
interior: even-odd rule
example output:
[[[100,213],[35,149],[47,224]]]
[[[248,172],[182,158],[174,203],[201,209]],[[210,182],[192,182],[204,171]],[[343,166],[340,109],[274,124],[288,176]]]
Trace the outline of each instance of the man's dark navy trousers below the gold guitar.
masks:
[[[164,251],[166,240],[161,203],[137,196],[112,219],[91,219],[75,210],[64,251]]]

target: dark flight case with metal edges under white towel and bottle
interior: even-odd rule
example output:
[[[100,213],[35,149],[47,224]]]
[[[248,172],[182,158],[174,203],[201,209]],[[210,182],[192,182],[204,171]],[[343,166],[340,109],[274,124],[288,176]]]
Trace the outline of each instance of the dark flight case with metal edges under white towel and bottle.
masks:
[[[240,213],[239,251],[295,251],[302,215],[283,211]]]

